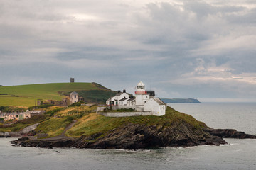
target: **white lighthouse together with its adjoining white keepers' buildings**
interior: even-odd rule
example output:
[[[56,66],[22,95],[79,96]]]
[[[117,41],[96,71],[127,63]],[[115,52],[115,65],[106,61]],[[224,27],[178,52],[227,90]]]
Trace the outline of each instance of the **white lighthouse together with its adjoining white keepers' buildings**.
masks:
[[[142,81],[135,87],[135,97],[130,97],[124,90],[107,99],[108,106],[114,108],[135,108],[136,111],[152,112],[152,115],[165,115],[166,103],[154,97],[154,91],[146,91]]]

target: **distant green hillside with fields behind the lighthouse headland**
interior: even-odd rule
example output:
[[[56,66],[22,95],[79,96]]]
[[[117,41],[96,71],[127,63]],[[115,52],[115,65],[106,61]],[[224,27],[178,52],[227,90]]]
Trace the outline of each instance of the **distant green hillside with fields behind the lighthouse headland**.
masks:
[[[110,97],[113,93],[110,89],[96,83],[53,83],[0,86],[0,106],[33,106],[37,99],[60,101],[67,91],[104,91],[105,98]],[[108,91],[107,94],[106,91]],[[82,92],[82,94],[86,93]],[[86,96],[83,97],[86,99]]]

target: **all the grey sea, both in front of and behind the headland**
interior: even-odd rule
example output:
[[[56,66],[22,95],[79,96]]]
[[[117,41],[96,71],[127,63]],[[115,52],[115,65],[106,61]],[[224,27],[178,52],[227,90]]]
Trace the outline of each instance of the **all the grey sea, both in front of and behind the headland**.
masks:
[[[169,103],[211,128],[256,135],[256,103]],[[225,139],[220,146],[159,149],[12,147],[0,138],[0,169],[256,169],[256,140]]]

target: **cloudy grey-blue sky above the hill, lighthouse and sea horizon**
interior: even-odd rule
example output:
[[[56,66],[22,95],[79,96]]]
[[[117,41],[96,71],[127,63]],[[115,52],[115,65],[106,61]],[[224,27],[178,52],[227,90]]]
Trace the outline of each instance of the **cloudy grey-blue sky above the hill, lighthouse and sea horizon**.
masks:
[[[256,101],[255,0],[0,0],[0,84]]]

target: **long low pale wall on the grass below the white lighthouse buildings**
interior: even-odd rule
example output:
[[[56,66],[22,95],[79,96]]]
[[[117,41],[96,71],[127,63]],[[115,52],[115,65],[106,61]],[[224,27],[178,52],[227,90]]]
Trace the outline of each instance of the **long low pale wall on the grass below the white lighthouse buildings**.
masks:
[[[139,115],[153,115],[151,111],[148,112],[98,112],[106,117],[129,117]]]

